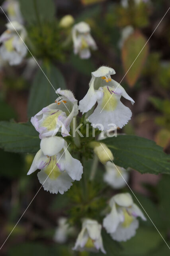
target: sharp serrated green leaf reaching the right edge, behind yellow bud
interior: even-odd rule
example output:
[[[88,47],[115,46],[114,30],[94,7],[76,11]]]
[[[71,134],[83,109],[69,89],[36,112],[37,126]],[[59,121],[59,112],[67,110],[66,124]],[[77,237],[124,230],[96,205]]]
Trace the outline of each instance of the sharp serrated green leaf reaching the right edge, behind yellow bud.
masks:
[[[141,173],[170,174],[170,156],[152,140],[133,135],[119,135],[102,140],[110,148],[114,163]]]

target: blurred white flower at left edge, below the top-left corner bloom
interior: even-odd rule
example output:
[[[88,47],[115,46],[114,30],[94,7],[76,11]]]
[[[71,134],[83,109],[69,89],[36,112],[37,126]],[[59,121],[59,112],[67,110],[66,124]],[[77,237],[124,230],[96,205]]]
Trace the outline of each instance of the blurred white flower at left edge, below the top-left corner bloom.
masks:
[[[6,27],[8,29],[0,36],[0,43],[2,43],[0,54],[2,59],[7,60],[10,65],[18,65],[27,54],[27,48],[22,41],[26,37],[26,30],[16,21],[12,24],[7,23]],[[20,34],[22,40],[14,28]]]

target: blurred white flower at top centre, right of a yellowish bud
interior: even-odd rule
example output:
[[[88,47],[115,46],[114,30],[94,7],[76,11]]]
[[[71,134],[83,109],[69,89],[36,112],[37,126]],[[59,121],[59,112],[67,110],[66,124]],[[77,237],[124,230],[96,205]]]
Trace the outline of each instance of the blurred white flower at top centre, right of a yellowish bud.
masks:
[[[72,40],[74,54],[79,54],[82,59],[90,58],[90,49],[97,49],[96,42],[90,35],[90,26],[86,22],[79,22],[74,25],[72,28]]]

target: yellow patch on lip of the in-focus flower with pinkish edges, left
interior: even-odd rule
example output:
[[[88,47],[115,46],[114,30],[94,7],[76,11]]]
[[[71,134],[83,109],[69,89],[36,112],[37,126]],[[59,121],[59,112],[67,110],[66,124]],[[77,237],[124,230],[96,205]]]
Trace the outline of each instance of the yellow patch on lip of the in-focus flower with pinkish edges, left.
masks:
[[[55,110],[53,110],[55,111]],[[46,127],[48,131],[53,131],[56,128],[56,124],[57,124],[57,119],[58,116],[61,114],[61,110],[58,110],[57,112],[51,112],[51,114],[49,114],[49,116],[47,116],[42,125],[43,127]]]

